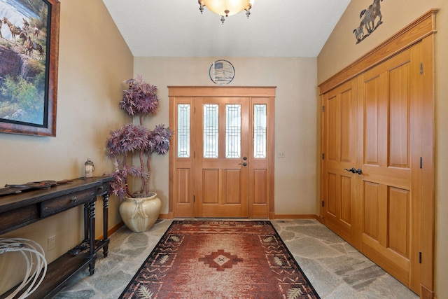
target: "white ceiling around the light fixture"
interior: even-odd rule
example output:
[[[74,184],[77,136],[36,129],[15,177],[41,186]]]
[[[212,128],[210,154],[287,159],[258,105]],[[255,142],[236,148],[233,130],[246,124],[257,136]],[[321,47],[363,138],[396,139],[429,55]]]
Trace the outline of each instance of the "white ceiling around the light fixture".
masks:
[[[226,18],[197,0],[103,0],[135,57],[317,57],[350,0],[255,0]]]

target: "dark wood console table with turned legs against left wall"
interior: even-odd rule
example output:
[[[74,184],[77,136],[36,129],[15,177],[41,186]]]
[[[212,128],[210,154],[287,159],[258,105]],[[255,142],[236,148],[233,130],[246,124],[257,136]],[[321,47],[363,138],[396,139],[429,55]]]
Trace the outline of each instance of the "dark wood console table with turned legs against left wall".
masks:
[[[62,288],[66,280],[83,267],[89,265],[90,275],[94,274],[97,251],[103,249],[104,257],[107,256],[110,181],[112,178],[109,176],[74,179],[71,183],[45,190],[29,190],[0,197],[0,235],[84,204],[85,239],[81,244],[82,248],[86,249],[80,250],[78,254],[66,253],[50,263],[42,284],[28,298],[51,298]],[[95,202],[98,196],[103,197],[104,237],[96,240],[94,220]],[[14,288],[0,295],[0,298],[6,298],[13,290]]]

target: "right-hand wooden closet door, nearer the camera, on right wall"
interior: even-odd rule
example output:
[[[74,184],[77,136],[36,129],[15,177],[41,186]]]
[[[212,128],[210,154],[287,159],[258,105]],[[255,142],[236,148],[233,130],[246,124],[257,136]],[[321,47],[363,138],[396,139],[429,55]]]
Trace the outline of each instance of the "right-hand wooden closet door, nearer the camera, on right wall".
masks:
[[[415,58],[406,50],[359,77],[356,218],[362,252],[418,293],[409,285],[411,275],[419,277],[421,221],[412,188],[421,137],[412,117],[420,100],[412,94],[420,76]]]

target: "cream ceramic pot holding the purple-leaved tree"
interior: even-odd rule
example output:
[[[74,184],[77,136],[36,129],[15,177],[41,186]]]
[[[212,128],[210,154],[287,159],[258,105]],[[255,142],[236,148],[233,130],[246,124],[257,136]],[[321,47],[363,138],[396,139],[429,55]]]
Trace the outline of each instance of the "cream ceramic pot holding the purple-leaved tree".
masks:
[[[144,232],[153,227],[159,218],[160,202],[157,193],[150,197],[125,198],[120,204],[120,216],[133,232]]]

